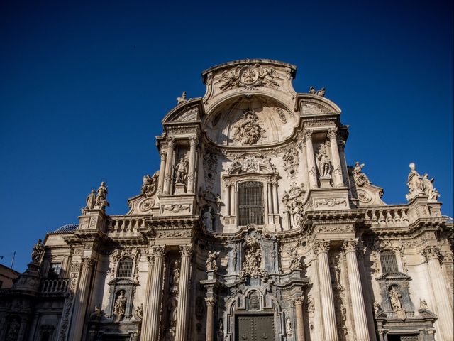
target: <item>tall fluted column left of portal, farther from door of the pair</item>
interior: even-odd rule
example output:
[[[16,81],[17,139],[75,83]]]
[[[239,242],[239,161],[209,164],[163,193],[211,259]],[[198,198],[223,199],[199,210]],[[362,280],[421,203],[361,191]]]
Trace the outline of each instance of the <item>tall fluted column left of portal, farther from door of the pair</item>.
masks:
[[[163,269],[164,269],[164,256],[165,248],[163,246],[152,247],[154,254],[154,265],[153,265],[153,276],[151,278],[151,291],[148,308],[150,313],[148,314],[149,320],[146,325],[148,325],[147,337],[143,337],[143,340],[146,341],[159,341],[159,331],[160,331],[160,310],[161,310],[161,296],[162,296],[162,280],[163,280]],[[142,328],[145,330],[145,328]]]

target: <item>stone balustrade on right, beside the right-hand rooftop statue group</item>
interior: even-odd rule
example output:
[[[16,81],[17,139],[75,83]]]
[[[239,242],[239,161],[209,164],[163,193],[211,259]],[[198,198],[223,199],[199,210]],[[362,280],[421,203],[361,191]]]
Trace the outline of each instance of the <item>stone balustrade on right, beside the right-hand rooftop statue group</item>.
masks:
[[[387,206],[368,208],[365,214],[365,221],[380,227],[399,227],[409,223],[407,215],[408,207]]]

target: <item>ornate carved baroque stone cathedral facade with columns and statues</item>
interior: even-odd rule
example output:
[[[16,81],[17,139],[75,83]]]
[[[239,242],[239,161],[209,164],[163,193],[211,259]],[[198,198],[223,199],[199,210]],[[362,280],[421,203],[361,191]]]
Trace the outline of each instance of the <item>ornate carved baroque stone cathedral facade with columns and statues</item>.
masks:
[[[0,340],[453,340],[452,222],[410,164],[387,205],[348,166],[341,109],[296,67],[202,73],[157,137],[160,168],[124,215],[108,187],[0,291]],[[152,171],[152,170],[150,170]]]

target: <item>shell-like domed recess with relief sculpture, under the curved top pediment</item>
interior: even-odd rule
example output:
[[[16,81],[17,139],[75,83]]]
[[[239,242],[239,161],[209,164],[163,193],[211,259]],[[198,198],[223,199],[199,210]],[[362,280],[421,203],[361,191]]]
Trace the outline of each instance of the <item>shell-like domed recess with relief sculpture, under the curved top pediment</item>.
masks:
[[[297,114],[258,94],[227,99],[204,121],[206,136],[222,146],[275,144],[292,136]]]

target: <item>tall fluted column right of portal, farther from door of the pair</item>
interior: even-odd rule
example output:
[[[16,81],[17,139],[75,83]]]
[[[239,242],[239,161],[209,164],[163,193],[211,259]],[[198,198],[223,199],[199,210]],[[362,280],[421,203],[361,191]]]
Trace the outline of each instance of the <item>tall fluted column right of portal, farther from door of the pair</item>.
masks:
[[[348,283],[350,285],[356,340],[369,341],[370,337],[367,329],[364,296],[362,296],[360,271],[356,259],[357,245],[358,242],[355,239],[345,240],[343,242],[343,251],[345,251],[345,256],[347,258]]]

